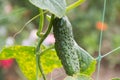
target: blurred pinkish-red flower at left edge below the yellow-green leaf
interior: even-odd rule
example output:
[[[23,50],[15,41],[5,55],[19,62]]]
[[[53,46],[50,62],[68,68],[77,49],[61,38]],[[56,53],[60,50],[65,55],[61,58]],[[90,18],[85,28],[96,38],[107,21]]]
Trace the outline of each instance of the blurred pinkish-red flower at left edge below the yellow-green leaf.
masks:
[[[0,67],[8,69],[12,66],[14,59],[0,60]]]

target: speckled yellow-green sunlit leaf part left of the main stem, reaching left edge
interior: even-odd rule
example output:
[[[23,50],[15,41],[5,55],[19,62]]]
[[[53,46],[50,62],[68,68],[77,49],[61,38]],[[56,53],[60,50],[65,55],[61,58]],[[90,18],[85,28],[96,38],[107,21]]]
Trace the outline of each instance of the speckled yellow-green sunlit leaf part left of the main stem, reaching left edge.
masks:
[[[4,48],[0,54],[0,60],[15,58],[18,65],[28,80],[36,76],[35,47],[12,46]]]

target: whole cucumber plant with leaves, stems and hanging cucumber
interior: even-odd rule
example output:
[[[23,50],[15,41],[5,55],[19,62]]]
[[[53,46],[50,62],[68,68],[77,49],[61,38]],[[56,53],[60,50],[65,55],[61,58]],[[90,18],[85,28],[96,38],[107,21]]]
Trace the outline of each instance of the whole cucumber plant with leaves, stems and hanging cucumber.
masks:
[[[91,75],[95,71],[96,60],[100,60],[110,53],[120,49],[120,47],[116,48],[115,50],[100,56],[100,58],[98,57],[95,59],[76,43],[72,33],[72,25],[68,20],[66,13],[79,6],[82,2],[84,2],[84,0],[78,0],[69,6],[66,6],[66,0],[29,1],[40,10],[40,14],[30,20],[32,21],[36,17],[40,16],[40,25],[37,32],[39,40],[37,46],[12,46],[4,48],[0,54],[0,59],[16,58],[27,79],[39,80],[40,76],[38,71],[40,71],[41,76],[44,80],[46,80],[46,74],[51,72],[54,68],[61,67],[61,62],[66,74],[68,75],[64,80],[92,80]],[[51,13],[51,16],[48,17],[50,23],[46,32],[41,36],[44,25],[44,15],[46,16],[45,13],[47,12],[49,12],[49,14]],[[27,25],[30,21],[28,21],[25,25]],[[46,48],[42,45],[52,27],[57,55],[54,54],[55,51],[52,51],[54,46]],[[51,54],[45,56],[46,51],[47,54]],[[23,58],[21,56],[24,57],[24,60],[22,60]],[[58,57],[60,60],[58,60]],[[46,60],[48,60],[48,62],[55,61],[57,62],[57,65],[50,64],[48,66],[47,63],[44,63],[47,62]],[[28,69],[29,65],[32,67]],[[48,68],[52,65],[54,66],[49,70]],[[42,66],[44,66],[44,69],[42,69]]]

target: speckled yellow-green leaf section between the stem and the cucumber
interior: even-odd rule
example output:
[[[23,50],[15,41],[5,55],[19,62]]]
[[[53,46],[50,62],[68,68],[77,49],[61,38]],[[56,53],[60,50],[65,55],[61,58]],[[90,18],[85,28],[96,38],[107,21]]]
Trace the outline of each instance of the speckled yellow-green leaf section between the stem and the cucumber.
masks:
[[[59,58],[56,55],[56,51],[51,49],[44,53],[41,57],[42,66],[45,74],[50,73],[55,68],[62,67]]]

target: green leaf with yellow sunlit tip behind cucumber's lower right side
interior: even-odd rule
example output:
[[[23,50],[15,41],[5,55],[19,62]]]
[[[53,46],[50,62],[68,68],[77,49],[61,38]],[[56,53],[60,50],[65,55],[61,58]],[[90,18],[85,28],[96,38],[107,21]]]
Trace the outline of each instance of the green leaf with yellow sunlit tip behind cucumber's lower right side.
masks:
[[[91,76],[96,69],[96,60],[84,49],[78,46],[80,73]]]

